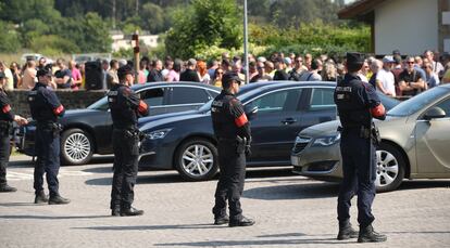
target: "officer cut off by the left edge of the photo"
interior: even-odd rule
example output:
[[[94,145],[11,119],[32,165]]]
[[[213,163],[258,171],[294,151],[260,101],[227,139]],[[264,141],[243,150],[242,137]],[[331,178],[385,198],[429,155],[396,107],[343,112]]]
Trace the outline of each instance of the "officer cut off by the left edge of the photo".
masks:
[[[17,188],[8,185],[7,166],[10,159],[10,133],[12,131],[12,121],[18,125],[26,125],[27,120],[18,115],[14,115],[11,109],[11,102],[8,99],[4,86],[7,76],[0,71],[0,193],[15,192]]]

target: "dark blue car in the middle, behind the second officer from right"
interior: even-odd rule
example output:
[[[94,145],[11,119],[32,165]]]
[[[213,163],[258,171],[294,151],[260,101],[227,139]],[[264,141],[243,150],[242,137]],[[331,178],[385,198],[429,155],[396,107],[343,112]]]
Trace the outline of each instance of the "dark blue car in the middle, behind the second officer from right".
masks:
[[[335,87],[334,82],[293,81],[243,87],[238,99],[245,105],[253,138],[247,165],[290,166],[297,133],[336,119]],[[211,179],[218,166],[210,108],[211,102],[185,115],[140,119],[139,129],[147,138],[140,147],[139,168],[176,169],[193,181]]]

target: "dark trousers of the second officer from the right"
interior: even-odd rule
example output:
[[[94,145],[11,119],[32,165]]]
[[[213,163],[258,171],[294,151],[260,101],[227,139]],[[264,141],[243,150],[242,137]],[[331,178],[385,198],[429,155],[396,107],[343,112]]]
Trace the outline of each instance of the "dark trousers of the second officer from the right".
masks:
[[[242,209],[239,199],[246,180],[246,155],[243,151],[237,152],[236,141],[218,142],[218,166],[221,177],[215,191],[214,217],[226,214],[226,200],[228,199],[230,220],[240,220]]]

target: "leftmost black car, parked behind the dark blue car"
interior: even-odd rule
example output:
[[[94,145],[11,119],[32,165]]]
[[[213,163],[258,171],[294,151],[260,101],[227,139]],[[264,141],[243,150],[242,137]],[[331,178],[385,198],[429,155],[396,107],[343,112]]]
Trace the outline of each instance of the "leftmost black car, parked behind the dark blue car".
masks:
[[[151,82],[133,86],[133,89],[149,105],[151,116],[197,109],[221,91],[196,82]],[[112,119],[105,96],[86,109],[66,110],[59,121],[64,129],[61,133],[63,164],[83,165],[92,154],[112,154]],[[28,156],[35,155],[35,130],[32,122],[16,133],[18,151]]]

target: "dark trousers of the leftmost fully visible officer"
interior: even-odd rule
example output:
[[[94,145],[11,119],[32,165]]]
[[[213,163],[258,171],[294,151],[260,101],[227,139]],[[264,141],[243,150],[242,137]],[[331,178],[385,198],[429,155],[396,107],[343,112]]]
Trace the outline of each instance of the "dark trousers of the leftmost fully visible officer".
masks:
[[[46,173],[50,197],[59,195],[60,133],[51,123],[38,123],[36,128],[35,194],[43,191]]]

